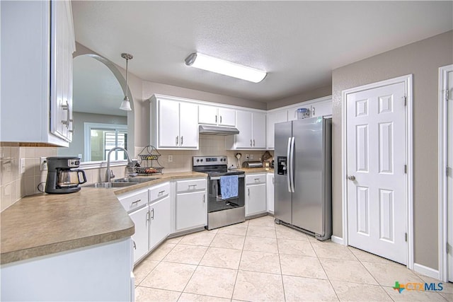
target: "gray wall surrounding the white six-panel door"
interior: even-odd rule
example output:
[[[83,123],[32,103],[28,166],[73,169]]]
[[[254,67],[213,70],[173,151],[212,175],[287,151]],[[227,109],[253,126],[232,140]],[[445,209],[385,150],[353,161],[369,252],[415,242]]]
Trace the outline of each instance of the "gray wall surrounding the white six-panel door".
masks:
[[[438,269],[438,69],[453,63],[453,31],[333,70],[333,234],[343,237],[341,91],[413,74],[413,209],[415,263]]]

